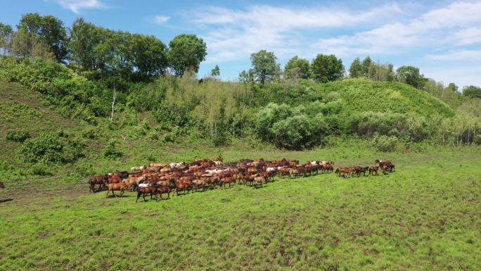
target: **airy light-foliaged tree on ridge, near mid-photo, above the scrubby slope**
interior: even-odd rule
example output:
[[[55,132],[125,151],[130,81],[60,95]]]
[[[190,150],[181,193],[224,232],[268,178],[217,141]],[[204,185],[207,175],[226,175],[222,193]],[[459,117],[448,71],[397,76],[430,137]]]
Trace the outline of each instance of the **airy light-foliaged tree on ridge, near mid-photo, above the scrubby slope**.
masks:
[[[276,63],[276,60],[274,52],[261,50],[252,53],[250,55],[252,71],[249,71],[248,74],[252,74],[254,80],[261,84],[277,79],[281,75],[281,65]]]

